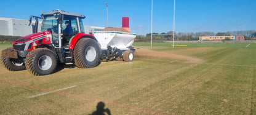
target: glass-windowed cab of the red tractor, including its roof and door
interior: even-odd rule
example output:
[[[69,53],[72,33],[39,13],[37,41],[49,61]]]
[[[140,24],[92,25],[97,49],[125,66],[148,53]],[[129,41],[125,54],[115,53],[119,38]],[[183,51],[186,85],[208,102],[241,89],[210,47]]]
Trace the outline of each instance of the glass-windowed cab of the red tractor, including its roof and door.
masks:
[[[82,14],[74,14],[63,10],[53,10],[41,15],[44,18],[41,31],[52,33],[52,42],[56,47],[69,46],[70,40],[78,33],[84,33]]]

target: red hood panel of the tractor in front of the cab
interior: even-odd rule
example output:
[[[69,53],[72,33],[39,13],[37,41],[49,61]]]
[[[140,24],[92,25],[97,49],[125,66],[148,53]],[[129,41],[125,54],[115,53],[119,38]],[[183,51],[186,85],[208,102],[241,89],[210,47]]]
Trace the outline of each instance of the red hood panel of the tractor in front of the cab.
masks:
[[[38,41],[39,39],[46,38],[47,34],[51,34],[50,31],[43,31],[39,33],[30,34],[28,36],[23,36],[18,38],[16,41],[12,42],[12,44],[25,43],[28,41]]]

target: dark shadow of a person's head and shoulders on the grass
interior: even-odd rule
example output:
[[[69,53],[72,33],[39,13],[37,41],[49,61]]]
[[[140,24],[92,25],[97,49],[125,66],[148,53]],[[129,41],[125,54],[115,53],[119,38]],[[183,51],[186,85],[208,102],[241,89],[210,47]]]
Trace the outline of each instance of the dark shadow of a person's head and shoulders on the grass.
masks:
[[[98,102],[98,104],[96,106],[97,110],[89,115],[105,115],[105,113],[108,115],[111,115],[110,109],[108,109],[108,108],[104,109],[104,107],[105,107],[105,103],[103,103],[102,101]]]

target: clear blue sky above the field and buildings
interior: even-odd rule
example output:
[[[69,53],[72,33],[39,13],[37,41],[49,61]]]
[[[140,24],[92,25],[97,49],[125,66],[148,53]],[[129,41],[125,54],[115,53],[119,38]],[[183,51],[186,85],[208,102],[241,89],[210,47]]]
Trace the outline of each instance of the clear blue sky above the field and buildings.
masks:
[[[61,9],[84,14],[84,25],[121,27],[122,17],[130,18],[130,31],[151,33],[151,0],[1,1],[0,17],[28,19],[30,15]],[[175,32],[214,33],[256,30],[255,0],[175,0]],[[174,0],[153,0],[153,33],[174,30]]]

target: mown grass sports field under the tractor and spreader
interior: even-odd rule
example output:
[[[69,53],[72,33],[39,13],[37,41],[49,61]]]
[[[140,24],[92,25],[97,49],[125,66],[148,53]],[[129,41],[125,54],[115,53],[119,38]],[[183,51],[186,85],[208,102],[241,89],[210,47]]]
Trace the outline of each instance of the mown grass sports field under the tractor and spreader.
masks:
[[[132,62],[60,65],[33,76],[0,65],[0,114],[256,114],[256,44],[135,42]],[[0,50],[9,47],[0,44]]]

